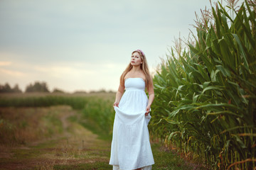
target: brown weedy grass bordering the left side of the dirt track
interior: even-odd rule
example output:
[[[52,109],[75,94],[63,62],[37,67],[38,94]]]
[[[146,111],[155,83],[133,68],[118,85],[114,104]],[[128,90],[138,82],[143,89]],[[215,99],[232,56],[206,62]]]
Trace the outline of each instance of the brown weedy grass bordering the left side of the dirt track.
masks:
[[[0,108],[0,146],[26,145],[63,132],[63,111],[50,108]]]

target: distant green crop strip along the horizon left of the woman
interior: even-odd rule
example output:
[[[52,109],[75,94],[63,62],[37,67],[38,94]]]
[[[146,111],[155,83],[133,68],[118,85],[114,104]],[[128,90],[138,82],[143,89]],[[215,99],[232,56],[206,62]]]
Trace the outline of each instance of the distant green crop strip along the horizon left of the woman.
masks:
[[[92,94],[50,94],[50,93],[26,93],[26,94],[0,94],[0,107],[47,107],[68,105],[74,109],[85,108],[92,98],[100,98],[103,101],[114,98],[114,93]],[[112,99],[114,100],[114,99]]]

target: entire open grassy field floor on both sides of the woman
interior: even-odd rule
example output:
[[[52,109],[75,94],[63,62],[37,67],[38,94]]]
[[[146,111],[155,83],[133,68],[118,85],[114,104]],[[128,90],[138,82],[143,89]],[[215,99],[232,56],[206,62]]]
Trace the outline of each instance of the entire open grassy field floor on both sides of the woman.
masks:
[[[0,169],[112,169],[108,162],[113,98],[114,94],[2,94],[0,100],[13,106],[0,108]],[[70,103],[31,106],[48,99]],[[71,107],[81,100],[83,108]],[[203,169],[160,142],[151,141],[151,147],[153,169]]]

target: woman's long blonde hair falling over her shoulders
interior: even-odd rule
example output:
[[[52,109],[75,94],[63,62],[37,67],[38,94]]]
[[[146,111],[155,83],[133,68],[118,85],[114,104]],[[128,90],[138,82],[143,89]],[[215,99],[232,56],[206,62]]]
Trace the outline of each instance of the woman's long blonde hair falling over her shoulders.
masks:
[[[140,68],[142,69],[142,71],[145,74],[146,80],[146,89],[149,90],[149,86],[152,85],[151,83],[151,77],[149,74],[149,67],[148,64],[146,62],[146,56],[144,55],[144,52],[142,52],[142,50],[135,50],[134,52],[138,52],[139,56],[141,57],[142,60],[142,64],[140,65]],[[134,54],[134,52],[132,52],[132,55]],[[127,68],[124,69],[124,72],[122,73],[121,77],[120,77],[120,84],[124,84],[124,77],[125,75],[132,69],[132,64],[131,62],[128,64]]]

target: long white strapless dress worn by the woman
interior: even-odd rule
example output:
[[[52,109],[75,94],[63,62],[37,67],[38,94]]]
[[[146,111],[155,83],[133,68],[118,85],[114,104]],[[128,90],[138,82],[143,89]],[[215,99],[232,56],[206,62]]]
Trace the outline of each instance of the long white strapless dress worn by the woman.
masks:
[[[145,115],[148,103],[145,81],[127,78],[124,86],[119,107],[114,107],[110,164],[114,170],[150,170],[154,158],[147,128],[151,116]]]

